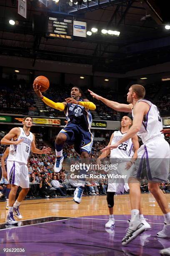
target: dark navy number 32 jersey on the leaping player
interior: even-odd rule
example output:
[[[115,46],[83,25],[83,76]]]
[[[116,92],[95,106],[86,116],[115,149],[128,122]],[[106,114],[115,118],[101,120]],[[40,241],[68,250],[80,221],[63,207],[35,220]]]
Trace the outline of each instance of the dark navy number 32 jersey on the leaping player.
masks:
[[[84,101],[82,98],[79,101]],[[92,115],[90,110],[83,106],[67,103],[65,115],[68,123],[74,123],[84,130],[90,130],[92,125]]]

